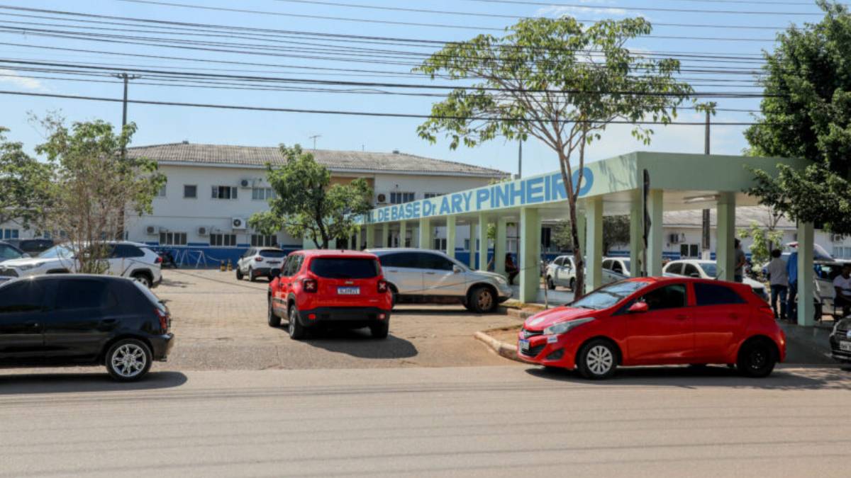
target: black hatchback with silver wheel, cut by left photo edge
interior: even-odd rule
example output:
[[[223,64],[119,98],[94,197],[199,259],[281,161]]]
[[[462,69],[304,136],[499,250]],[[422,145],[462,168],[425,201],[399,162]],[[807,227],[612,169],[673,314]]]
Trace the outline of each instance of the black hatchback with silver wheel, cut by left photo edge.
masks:
[[[61,274],[0,285],[0,367],[105,365],[132,381],[165,361],[168,308],[139,282]]]

